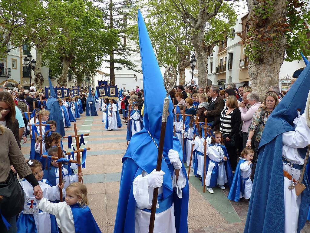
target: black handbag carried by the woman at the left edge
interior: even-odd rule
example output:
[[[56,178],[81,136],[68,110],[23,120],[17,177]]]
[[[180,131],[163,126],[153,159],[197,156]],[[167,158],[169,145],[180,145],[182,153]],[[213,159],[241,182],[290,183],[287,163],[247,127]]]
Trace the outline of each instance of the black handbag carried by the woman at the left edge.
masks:
[[[24,208],[24,190],[12,170],[7,180],[0,183],[0,196],[0,209],[4,217],[14,217]]]

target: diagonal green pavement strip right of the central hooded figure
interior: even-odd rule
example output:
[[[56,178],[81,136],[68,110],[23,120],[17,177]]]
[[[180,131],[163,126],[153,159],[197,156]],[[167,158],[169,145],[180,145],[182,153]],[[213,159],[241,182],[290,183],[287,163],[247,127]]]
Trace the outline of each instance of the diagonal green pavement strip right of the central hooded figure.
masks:
[[[232,207],[232,204],[220,188],[213,188],[214,194],[210,194],[207,189],[204,193],[201,181],[197,177],[189,176],[189,182],[226,219],[227,222],[241,222],[241,219]]]

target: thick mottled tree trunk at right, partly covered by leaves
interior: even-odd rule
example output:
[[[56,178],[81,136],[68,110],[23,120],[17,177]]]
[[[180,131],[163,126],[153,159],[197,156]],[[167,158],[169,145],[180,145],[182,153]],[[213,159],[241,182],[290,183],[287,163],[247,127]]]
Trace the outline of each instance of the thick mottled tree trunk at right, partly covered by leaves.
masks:
[[[247,0],[249,8],[249,24],[250,30],[261,29],[261,22],[259,18],[252,17],[254,14],[253,8],[255,7],[255,1]],[[261,4],[261,3],[260,3]],[[273,4],[274,12],[264,21],[263,33],[274,33],[274,27],[272,26],[277,20],[277,23],[285,23],[286,18],[286,0],[278,0]],[[272,30],[270,30],[270,26]],[[269,27],[269,28],[268,28]],[[270,42],[262,44],[264,52],[259,54],[259,59],[254,59],[249,65],[249,76],[251,81],[251,87],[255,92],[259,94],[261,100],[263,100],[268,88],[272,85],[279,85],[279,73],[281,65],[284,60],[284,52],[286,47],[285,34],[277,34],[277,43],[275,46],[270,46]],[[253,43],[253,41],[251,42]],[[268,44],[269,43],[269,44]]]

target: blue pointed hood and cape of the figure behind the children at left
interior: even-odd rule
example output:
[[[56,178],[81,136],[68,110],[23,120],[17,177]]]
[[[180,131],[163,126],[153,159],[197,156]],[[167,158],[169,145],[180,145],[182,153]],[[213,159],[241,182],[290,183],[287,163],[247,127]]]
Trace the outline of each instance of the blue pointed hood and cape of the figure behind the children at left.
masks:
[[[59,107],[59,102],[56,98],[56,94],[51,83],[50,78],[48,78],[50,96],[46,103],[46,109],[50,111],[49,120],[56,121],[57,127],[56,132],[59,133],[62,137],[65,136],[64,133],[64,120],[62,119],[62,113]]]

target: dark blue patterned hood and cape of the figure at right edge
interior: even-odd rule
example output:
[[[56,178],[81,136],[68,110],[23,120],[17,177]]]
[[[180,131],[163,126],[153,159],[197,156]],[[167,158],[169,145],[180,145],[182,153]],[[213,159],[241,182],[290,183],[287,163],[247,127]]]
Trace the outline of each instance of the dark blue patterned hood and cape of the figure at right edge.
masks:
[[[301,72],[290,90],[272,111],[266,122],[258,149],[258,161],[244,232],[284,232],[284,187],[282,163],[282,133],[294,131],[297,109],[303,113],[309,93],[310,65]],[[299,149],[301,156],[306,148]],[[306,223],[310,192],[305,173],[301,194],[298,232]],[[256,189],[257,187],[257,189]]]

